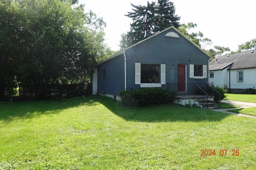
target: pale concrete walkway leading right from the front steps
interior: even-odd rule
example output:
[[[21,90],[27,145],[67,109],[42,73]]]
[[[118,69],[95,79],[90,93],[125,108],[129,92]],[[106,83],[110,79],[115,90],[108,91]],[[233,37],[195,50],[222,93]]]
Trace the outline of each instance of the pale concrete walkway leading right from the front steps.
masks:
[[[232,105],[238,105],[238,106],[240,106],[240,107],[237,107],[237,108],[229,108],[229,109],[212,109],[212,110],[214,110],[214,111],[220,111],[220,112],[222,112],[222,113],[231,114],[231,115],[238,115],[238,116],[256,118],[256,116],[252,116],[252,115],[245,115],[245,114],[241,114],[241,113],[233,113],[233,112],[231,112],[231,111],[227,111],[227,110],[230,110],[230,109],[241,109],[241,108],[248,108],[248,107],[256,107],[256,103],[237,102],[237,101],[231,101],[231,100],[222,100],[222,103],[232,104]]]

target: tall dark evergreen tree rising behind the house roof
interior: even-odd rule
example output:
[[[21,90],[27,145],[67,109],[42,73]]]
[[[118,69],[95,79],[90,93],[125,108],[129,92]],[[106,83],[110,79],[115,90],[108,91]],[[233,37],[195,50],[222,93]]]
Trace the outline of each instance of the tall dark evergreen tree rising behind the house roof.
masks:
[[[170,26],[179,27],[180,17],[175,15],[175,7],[170,0],[158,0],[157,4],[147,2],[147,6],[135,6],[134,4],[131,6],[133,12],[125,15],[132,18],[130,31],[126,36],[122,35],[120,49],[129,47]]]

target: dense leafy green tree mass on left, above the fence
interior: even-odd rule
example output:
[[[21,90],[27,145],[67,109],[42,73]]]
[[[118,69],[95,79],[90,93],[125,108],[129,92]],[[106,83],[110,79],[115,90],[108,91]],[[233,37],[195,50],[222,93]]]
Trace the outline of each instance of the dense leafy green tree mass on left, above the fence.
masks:
[[[79,83],[105,59],[102,18],[78,0],[2,0],[0,99],[17,84]]]

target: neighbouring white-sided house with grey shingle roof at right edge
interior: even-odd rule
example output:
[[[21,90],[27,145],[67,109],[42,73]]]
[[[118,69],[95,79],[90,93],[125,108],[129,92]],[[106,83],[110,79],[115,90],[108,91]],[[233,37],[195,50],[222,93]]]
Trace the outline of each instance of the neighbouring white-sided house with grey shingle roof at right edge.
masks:
[[[256,50],[215,57],[209,63],[209,81],[233,93],[253,93],[256,87]]]

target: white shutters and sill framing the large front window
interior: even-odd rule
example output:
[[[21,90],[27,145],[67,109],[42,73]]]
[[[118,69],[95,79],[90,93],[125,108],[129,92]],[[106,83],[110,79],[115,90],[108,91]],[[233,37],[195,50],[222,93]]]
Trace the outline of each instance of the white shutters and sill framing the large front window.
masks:
[[[143,63],[143,64],[150,64],[150,63]],[[166,84],[166,66],[165,64],[158,64],[160,65],[160,82],[159,83],[141,83],[141,63],[135,63],[135,84],[140,84],[141,88],[146,87],[162,87],[162,84]]]

